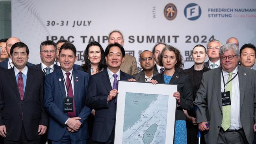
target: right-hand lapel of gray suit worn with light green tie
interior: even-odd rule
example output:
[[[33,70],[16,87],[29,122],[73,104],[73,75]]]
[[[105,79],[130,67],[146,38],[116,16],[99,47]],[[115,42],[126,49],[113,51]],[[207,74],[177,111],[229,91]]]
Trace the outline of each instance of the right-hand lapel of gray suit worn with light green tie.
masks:
[[[238,66],[238,80],[239,80],[239,90],[240,90],[240,109],[243,104],[243,99],[245,98],[245,83],[247,80],[247,73],[242,66]]]

